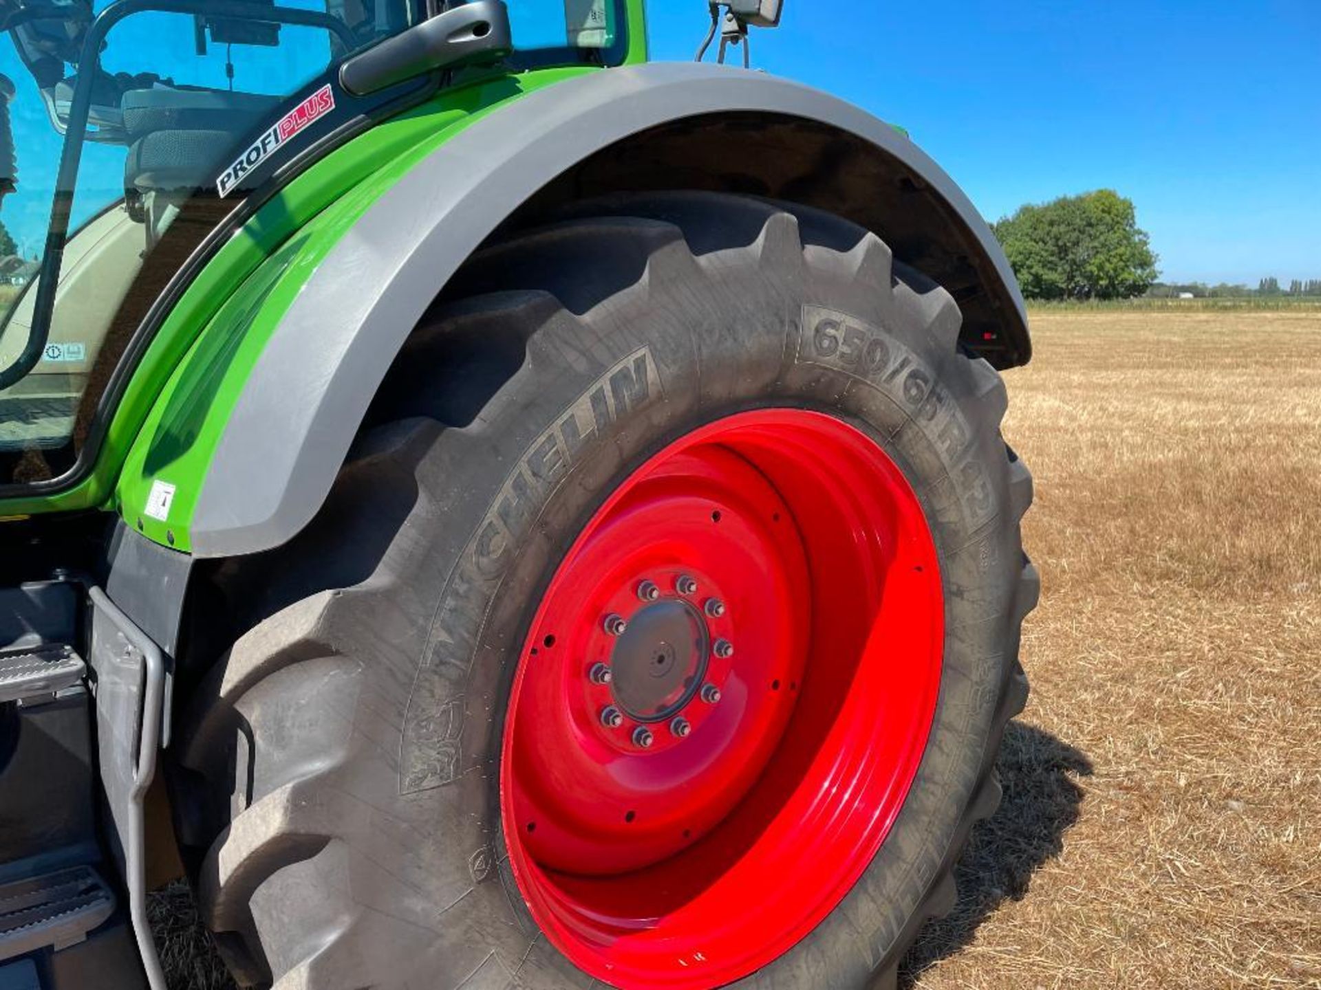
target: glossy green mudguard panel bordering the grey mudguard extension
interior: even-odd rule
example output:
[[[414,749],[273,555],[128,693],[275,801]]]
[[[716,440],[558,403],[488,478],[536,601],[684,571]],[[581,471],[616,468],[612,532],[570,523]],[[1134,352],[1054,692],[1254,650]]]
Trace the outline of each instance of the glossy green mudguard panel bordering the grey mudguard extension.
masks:
[[[445,91],[332,153],[267,203],[207,267],[223,264],[223,293],[199,280],[161,329],[160,339],[186,335],[190,347],[120,473],[116,504],[125,520],[152,540],[188,550],[188,520],[234,404],[280,318],[330,249],[382,193],[470,123],[531,90],[589,71],[600,70],[543,70]],[[260,238],[254,224],[271,236]],[[231,247],[242,253],[222,257]],[[194,290],[202,296],[198,308],[207,298],[223,305],[190,310]],[[201,334],[190,333],[198,326]],[[176,486],[166,521],[141,512],[156,479]]]

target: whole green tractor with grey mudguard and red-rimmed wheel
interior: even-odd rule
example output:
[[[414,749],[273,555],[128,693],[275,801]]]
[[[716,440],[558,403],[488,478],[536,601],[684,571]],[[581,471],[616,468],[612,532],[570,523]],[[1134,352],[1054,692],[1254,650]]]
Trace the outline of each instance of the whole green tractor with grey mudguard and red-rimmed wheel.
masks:
[[[950,909],[1022,298],[709,13],[0,0],[3,990],[164,990],[180,876],[280,990],[892,986]]]

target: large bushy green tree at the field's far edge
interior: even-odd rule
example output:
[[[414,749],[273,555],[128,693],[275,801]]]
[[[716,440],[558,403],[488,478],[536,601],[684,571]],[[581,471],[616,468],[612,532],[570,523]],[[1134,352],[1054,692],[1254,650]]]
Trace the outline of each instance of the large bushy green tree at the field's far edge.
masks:
[[[1132,201],[1111,189],[1022,206],[995,232],[1028,298],[1129,298],[1159,275]]]

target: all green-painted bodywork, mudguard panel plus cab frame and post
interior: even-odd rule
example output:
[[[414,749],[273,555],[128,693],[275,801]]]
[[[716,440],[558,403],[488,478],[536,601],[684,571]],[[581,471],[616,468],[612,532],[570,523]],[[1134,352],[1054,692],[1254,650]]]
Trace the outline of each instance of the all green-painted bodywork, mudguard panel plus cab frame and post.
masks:
[[[645,0],[626,0],[627,63],[647,61]],[[119,511],[145,536],[189,549],[186,520],[223,426],[280,317],[325,255],[394,182],[486,114],[598,69],[470,78],[378,124],[284,187],[215,255],[174,306],[115,409],[94,470],[66,491],[0,500],[0,521]],[[169,519],[143,515],[156,479]]]

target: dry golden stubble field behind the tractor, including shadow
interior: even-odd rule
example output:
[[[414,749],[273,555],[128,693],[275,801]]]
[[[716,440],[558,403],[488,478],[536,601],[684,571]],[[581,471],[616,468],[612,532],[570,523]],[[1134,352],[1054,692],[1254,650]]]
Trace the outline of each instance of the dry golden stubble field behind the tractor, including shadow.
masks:
[[[1321,313],[1034,333],[1007,428],[1037,479],[1034,693],[905,979],[1321,987]]]

